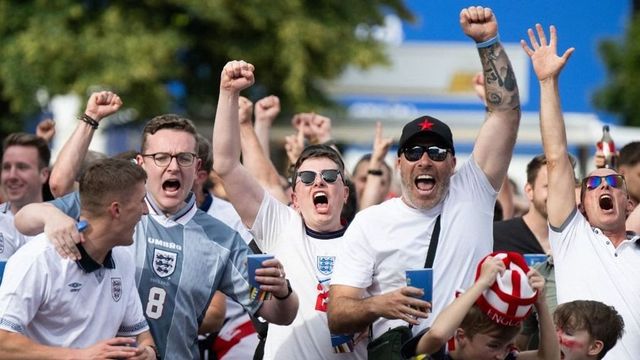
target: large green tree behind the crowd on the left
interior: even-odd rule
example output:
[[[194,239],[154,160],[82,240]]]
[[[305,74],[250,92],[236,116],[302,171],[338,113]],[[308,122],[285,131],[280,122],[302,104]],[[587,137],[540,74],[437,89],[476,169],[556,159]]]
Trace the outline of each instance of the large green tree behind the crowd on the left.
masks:
[[[230,59],[256,66],[250,96],[277,94],[289,112],[325,106],[320,80],[385,63],[383,46],[354,30],[388,13],[412,20],[402,0],[3,1],[0,130],[21,129],[43,87],[112,89],[146,119],[169,110],[170,81],[184,84],[187,115],[210,121]]]

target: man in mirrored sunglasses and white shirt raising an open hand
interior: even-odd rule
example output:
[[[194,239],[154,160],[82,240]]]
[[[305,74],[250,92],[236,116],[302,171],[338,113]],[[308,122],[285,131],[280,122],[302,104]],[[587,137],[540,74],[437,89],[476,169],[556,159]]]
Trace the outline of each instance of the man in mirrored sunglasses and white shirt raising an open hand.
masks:
[[[624,177],[613,169],[596,169],[582,180],[581,204],[572,191],[573,169],[560,106],[558,77],[573,48],[557,55],[557,32],[550,41],[541,25],[529,29],[531,57],[540,81],[540,130],[548,167],[547,213],[558,304],[596,300],[616,308],[624,319],[622,339],[604,359],[637,359],[640,354],[640,237],[627,232],[625,219],[633,208]],[[596,357],[602,342],[582,348]],[[564,350],[561,344],[561,350]],[[575,346],[574,346],[575,348]]]

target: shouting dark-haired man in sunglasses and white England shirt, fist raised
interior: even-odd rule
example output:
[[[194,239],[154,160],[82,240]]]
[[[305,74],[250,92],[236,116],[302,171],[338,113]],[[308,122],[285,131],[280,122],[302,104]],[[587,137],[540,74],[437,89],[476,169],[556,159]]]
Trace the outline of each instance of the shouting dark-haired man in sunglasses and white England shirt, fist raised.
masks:
[[[348,337],[332,342],[326,317],[329,280],[345,230],[340,219],[349,194],[344,164],[329,146],[304,149],[291,177],[291,207],[260,186],[239,160],[238,98],[253,84],[253,70],[244,61],[231,61],[222,70],[212,143],[214,170],[229,200],[258,247],[288,269],[300,298],[290,326],[269,325],[264,359],[365,359],[363,343],[350,349]]]

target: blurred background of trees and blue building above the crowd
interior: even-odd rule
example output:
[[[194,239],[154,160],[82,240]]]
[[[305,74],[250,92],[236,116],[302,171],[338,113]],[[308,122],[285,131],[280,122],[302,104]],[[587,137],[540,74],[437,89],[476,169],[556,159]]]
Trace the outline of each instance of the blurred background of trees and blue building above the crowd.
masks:
[[[477,50],[459,26],[459,0],[58,0],[0,2],[0,137],[56,121],[54,158],[88,95],[112,90],[125,106],[101,123],[91,148],[138,149],[142,124],[166,112],[211,134],[219,74],[230,59],[256,66],[245,96],[280,97],[272,131],[274,158],[291,116],[317,112],[351,167],[371,150],[375,122],[400,136],[429,114],[447,122],[463,160],[484,120],[472,77]],[[521,186],[525,166],[542,152],[539,94],[519,45],[537,22],[558,28],[559,51],[576,51],[561,76],[570,151],[578,175],[593,167],[595,142],[609,124],[618,148],[640,139],[640,1],[484,1],[497,14],[501,40],[520,89],[523,119],[510,168]],[[496,134],[500,136],[500,134]],[[393,163],[390,152],[388,161]]]

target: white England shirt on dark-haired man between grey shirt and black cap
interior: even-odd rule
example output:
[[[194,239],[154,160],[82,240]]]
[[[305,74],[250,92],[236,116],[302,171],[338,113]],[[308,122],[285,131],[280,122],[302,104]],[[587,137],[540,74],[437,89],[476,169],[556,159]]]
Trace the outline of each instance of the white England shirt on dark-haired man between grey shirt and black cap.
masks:
[[[295,210],[265,192],[251,232],[258,246],[282,262],[299,299],[291,325],[269,324],[264,359],[366,359],[366,344],[336,354],[331,346],[326,299],[342,231],[314,233]]]

